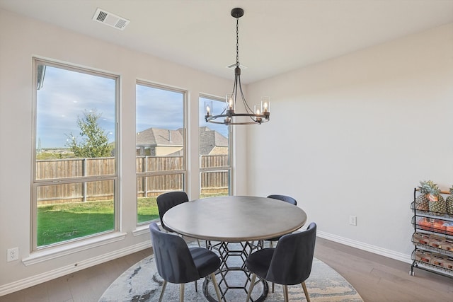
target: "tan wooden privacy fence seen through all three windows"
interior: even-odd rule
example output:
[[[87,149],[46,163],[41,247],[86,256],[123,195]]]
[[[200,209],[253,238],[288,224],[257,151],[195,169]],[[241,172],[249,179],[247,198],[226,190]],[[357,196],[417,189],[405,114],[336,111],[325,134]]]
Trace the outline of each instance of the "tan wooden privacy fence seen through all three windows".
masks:
[[[201,173],[202,194],[228,192],[228,156],[200,156],[201,168],[219,170]],[[137,156],[137,173],[162,172],[163,175],[144,175],[137,178],[137,196],[155,197],[161,192],[183,190],[182,156]],[[174,171],[174,173],[172,173]],[[58,180],[115,174],[115,158],[65,158],[36,161],[37,180]],[[84,202],[113,199],[113,180],[72,182],[38,186],[38,204]]]

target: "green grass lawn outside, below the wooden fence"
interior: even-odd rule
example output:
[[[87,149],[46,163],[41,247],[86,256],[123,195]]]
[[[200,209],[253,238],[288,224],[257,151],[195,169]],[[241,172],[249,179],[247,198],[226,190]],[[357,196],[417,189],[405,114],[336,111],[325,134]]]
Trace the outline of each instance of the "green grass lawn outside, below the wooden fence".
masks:
[[[159,219],[156,197],[139,198],[137,221]],[[38,246],[113,231],[113,200],[38,207]]]

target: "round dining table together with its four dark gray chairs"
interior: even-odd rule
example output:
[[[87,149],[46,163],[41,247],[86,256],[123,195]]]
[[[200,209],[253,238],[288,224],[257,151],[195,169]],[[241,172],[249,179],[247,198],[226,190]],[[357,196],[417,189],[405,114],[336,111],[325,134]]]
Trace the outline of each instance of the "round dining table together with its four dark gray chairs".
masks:
[[[167,301],[167,283],[185,285],[202,279],[206,301],[266,301],[275,285],[302,286],[314,257],[316,223],[294,198],[285,195],[222,196],[188,200],[185,192],[157,198],[161,226],[151,223],[156,267],[164,280],[159,301]],[[189,244],[195,238],[196,244]],[[298,285],[297,285],[298,284]],[[192,286],[192,285],[190,285]],[[277,289],[281,291],[282,289]]]

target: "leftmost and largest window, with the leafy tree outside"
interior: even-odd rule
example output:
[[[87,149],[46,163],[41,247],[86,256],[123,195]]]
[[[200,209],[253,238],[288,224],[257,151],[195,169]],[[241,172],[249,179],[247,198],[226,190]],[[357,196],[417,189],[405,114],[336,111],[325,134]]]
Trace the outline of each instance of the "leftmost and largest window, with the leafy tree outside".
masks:
[[[33,62],[33,250],[117,231],[118,78]]]

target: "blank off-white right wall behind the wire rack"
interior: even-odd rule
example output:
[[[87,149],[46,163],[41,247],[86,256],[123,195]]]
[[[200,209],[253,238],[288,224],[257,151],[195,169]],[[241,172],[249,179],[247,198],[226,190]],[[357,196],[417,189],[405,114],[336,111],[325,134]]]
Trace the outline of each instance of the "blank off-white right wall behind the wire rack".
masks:
[[[408,260],[413,188],[453,185],[452,37],[444,25],[248,86],[272,97],[271,121],[248,128],[248,193],[292,195],[321,236]]]

